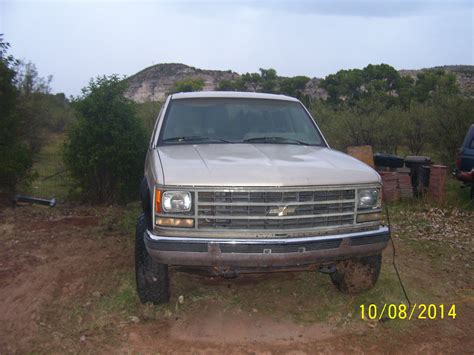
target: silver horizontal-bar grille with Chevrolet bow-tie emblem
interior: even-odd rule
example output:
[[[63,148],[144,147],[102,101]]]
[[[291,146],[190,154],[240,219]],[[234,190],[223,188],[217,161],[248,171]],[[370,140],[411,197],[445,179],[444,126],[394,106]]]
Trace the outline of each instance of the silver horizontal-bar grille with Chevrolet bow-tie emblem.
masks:
[[[354,224],[355,189],[196,194],[198,229],[288,230]]]

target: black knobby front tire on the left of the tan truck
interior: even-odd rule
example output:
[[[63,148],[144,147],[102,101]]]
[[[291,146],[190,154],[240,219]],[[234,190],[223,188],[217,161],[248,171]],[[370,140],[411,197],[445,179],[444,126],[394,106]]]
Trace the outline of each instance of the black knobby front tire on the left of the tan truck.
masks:
[[[138,217],[135,235],[135,278],[138,297],[141,303],[167,303],[170,298],[168,265],[157,263],[148,254],[144,240],[146,226],[146,217],[142,213]]]

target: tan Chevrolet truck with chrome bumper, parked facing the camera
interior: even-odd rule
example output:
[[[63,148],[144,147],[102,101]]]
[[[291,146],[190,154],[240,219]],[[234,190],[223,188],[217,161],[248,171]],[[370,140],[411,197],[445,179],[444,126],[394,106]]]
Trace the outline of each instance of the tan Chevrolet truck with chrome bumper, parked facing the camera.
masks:
[[[166,303],[169,267],[319,270],[343,292],[377,281],[389,229],[380,176],[329,147],[295,98],[170,95],[156,120],[135,241],[141,302]]]

